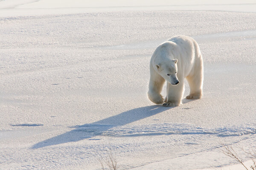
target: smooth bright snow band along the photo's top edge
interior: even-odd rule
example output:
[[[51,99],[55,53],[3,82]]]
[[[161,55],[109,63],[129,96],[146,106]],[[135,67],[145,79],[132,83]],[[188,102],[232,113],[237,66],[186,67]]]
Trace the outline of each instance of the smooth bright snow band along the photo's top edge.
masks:
[[[0,16],[41,16],[110,11],[256,12],[255,0],[0,0]]]

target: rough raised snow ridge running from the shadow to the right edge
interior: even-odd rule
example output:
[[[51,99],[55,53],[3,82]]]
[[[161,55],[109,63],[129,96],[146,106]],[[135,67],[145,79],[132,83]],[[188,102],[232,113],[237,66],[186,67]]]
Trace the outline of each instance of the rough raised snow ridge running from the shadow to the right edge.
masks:
[[[218,128],[201,127],[190,124],[150,124],[150,125],[82,125],[77,126],[75,131],[84,131],[92,133],[92,136],[116,136],[116,137],[132,137],[132,136],[157,136],[157,135],[198,135],[210,134],[219,137],[242,136],[247,134],[255,134],[256,127],[250,125],[227,126]]]

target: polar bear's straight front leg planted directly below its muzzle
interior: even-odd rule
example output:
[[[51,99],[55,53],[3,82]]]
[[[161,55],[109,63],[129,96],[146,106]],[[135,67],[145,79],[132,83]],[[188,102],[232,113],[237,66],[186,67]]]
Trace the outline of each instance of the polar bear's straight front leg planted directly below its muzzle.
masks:
[[[179,84],[171,85],[167,83],[167,101],[163,103],[165,107],[176,107],[181,104],[184,92],[184,82],[180,79]]]

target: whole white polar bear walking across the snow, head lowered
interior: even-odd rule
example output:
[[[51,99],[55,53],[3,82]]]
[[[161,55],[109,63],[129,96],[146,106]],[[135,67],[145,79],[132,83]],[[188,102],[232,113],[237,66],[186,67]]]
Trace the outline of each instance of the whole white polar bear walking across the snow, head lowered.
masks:
[[[189,83],[187,99],[202,97],[204,65],[198,43],[191,37],[179,35],[160,44],[150,60],[148,99],[156,104],[175,107],[181,104],[184,78]],[[160,94],[167,82],[167,96]]]

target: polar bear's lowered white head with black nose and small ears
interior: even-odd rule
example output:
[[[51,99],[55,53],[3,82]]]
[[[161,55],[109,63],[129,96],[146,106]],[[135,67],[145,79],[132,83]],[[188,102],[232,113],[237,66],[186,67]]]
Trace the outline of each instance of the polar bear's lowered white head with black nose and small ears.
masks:
[[[177,78],[177,62],[178,59],[171,59],[165,62],[159,62],[157,65],[154,65],[154,67],[157,73],[160,74],[166,82],[177,85],[179,83]]]

